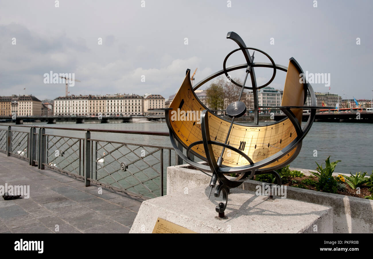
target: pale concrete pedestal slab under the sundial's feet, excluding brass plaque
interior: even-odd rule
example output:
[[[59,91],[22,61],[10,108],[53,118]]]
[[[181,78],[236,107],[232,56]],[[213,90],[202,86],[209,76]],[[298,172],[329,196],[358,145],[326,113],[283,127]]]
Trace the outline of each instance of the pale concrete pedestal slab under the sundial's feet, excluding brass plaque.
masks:
[[[157,218],[198,233],[332,233],[332,209],[304,201],[257,196],[231,189],[225,218],[218,218],[209,186],[143,201],[130,233],[151,233]],[[186,194],[187,193],[187,194]],[[222,194],[221,194],[222,195]]]

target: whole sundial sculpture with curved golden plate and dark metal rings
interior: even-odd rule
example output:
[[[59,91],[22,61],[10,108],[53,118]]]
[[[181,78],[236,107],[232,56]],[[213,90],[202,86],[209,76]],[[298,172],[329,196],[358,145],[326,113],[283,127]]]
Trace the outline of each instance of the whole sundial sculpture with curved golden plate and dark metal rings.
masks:
[[[325,107],[316,107],[316,97],[309,83],[300,83],[300,73],[303,73],[300,65],[294,58],[289,60],[288,67],[275,64],[273,59],[262,50],[246,47],[244,41],[238,34],[229,32],[227,38],[235,41],[239,48],[230,52],[223,62],[223,70],[220,70],[204,78],[196,86],[192,87],[190,81],[190,70],[186,70],[186,76],[178,93],[170,104],[165,108],[165,117],[170,131],[170,140],[176,153],[191,166],[211,176],[210,194],[218,183],[214,195],[219,197],[223,193],[222,202],[216,206],[219,217],[224,217],[224,210],[228,202],[228,189],[235,188],[246,179],[254,175],[271,173],[275,176],[277,184],[281,185],[281,178],[275,171],[293,161],[300,152],[302,140],[310,130],[314,121],[316,110]],[[263,53],[271,63],[254,63],[254,52],[251,56],[249,50]],[[226,61],[233,53],[242,51],[246,64],[226,67]],[[257,86],[254,68],[272,68],[273,74],[270,80]],[[241,95],[236,102],[232,102],[226,108],[226,114],[231,121],[219,117],[205,107],[197,98],[194,91],[204,83],[219,75],[233,70],[246,68],[244,83],[241,85],[231,79],[236,86],[241,87]],[[275,78],[276,71],[286,72],[285,86],[283,89],[282,103],[280,107],[258,106],[258,89],[268,86]],[[245,86],[250,75],[251,86]],[[235,123],[235,119],[241,117],[248,111],[244,102],[241,101],[244,89],[253,91],[254,113],[253,125]],[[311,106],[304,106],[307,92],[311,96]],[[258,125],[259,108],[279,108],[286,118],[275,123]],[[178,120],[172,116],[172,111],[201,112],[200,121]],[[303,110],[311,110],[305,126],[301,127]],[[175,114],[175,113],[173,113]],[[188,117],[188,114],[186,114]],[[189,116],[188,118],[192,118]],[[199,124],[200,122],[200,124]],[[186,148],[186,155],[178,148],[175,140]],[[190,154],[207,162],[201,164],[193,161]],[[236,173],[238,177],[234,180],[226,178],[225,174]],[[209,197],[210,197],[209,194]]]

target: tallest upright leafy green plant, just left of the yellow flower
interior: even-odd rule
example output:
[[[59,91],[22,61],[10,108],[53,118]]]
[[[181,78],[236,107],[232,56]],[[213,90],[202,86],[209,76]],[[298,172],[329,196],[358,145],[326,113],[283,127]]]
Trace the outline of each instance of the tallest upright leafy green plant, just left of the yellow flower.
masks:
[[[332,174],[334,172],[334,169],[337,163],[341,162],[341,160],[337,160],[335,162],[330,163],[329,159],[330,159],[330,156],[326,158],[325,160],[325,168],[323,168],[322,164],[320,166],[316,162],[317,172],[311,172],[311,173],[317,178],[319,178],[319,181],[316,182],[317,191],[336,193],[338,190],[338,187],[337,187],[338,182],[335,180]]]

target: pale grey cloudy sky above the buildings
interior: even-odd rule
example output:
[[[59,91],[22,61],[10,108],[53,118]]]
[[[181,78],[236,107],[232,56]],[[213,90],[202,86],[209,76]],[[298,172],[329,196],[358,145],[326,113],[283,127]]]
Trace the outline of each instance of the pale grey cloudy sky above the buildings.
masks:
[[[226,38],[234,31],[276,64],[288,66],[294,57],[308,73],[330,74],[330,93],[342,99],[371,99],[372,7],[369,0],[1,0],[0,95],[65,96],[65,84],[44,83],[53,71],[81,81],[69,87],[70,95],[168,98],[187,68],[198,68],[195,83],[223,68],[238,48]],[[257,52],[254,57],[270,62]],[[242,63],[240,52],[227,61]],[[268,68],[255,71],[258,84],[272,75]],[[244,72],[232,76],[243,81]],[[278,71],[270,86],[283,89],[284,82]],[[329,92],[324,83],[311,85]]]

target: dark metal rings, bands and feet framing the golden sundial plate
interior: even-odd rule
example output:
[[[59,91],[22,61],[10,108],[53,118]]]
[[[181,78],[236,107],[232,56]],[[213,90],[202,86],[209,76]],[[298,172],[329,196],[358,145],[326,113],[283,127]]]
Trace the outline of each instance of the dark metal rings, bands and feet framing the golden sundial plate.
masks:
[[[288,68],[275,64],[273,59],[267,53],[265,53],[265,52],[263,52],[259,49],[256,49],[256,48],[246,47],[242,38],[239,37],[238,34],[236,34],[234,32],[229,32],[228,35],[227,35],[227,38],[235,41],[238,44],[239,49],[233,50],[232,52],[230,52],[226,56],[226,58],[223,62],[223,70],[218,71],[217,73],[214,73],[214,74],[204,78],[194,88],[191,87],[191,89],[193,91],[195,91],[201,85],[206,83],[207,81],[209,81],[209,80],[211,80],[211,79],[213,79],[213,78],[215,78],[219,75],[225,74],[227,76],[227,78],[229,78],[229,80],[233,84],[236,84],[237,86],[242,87],[242,91],[243,91],[243,89],[253,90],[253,94],[254,94],[254,110],[253,110],[254,111],[254,124],[258,125],[258,111],[259,111],[258,108],[259,107],[258,107],[257,90],[261,89],[263,87],[266,87],[267,85],[269,85],[273,81],[273,79],[275,78],[275,75],[276,75],[276,70],[279,69],[279,70],[287,72]],[[254,61],[254,53],[253,53],[252,56],[250,56],[250,53],[248,52],[249,49],[254,50],[254,51],[258,51],[258,52],[264,54],[265,56],[267,56],[267,58],[270,60],[271,63],[254,63],[253,62]],[[244,57],[247,61],[247,64],[241,64],[241,65],[236,65],[236,66],[233,66],[233,67],[226,68],[226,61],[228,60],[229,56],[231,56],[233,53],[235,53],[239,50],[242,50],[242,52],[244,54]],[[300,73],[303,73],[301,67],[299,66],[297,61],[295,61],[294,58],[291,58],[290,61],[292,62],[293,65],[295,65],[295,67],[298,69],[298,71],[300,71]],[[236,83],[234,80],[232,80],[230,78],[230,76],[228,75],[229,71],[238,70],[238,69],[245,68],[245,67],[247,68],[246,69],[246,72],[247,72],[246,78],[247,78],[248,73],[250,73],[251,83],[252,83],[251,87],[245,86],[246,78],[244,80],[244,83],[241,85],[241,84]],[[257,86],[256,76],[255,76],[255,73],[254,73],[254,67],[273,68],[273,74],[272,74],[272,77],[270,78],[270,80],[267,83],[263,84],[262,86]],[[189,76],[189,73],[190,73],[190,71],[187,70],[186,71],[187,77]],[[215,197],[219,197],[220,192],[223,192],[223,202],[219,203],[219,206],[216,206],[216,212],[219,213],[219,217],[221,217],[221,218],[224,217],[224,210],[225,210],[227,202],[228,202],[227,195],[228,195],[229,188],[235,188],[235,187],[241,185],[242,182],[245,181],[245,179],[250,179],[254,175],[270,173],[270,174],[275,176],[276,181],[279,185],[282,184],[280,175],[276,171],[274,171],[274,170],[280,168],[280,166],[283,166],[282,164],[277,165],[277,166],[273,166],[273,167],[270,167],[270,168],[266,168],[266,169],[262,169],[262,167],[273,163],[273,161],[279,160],[280,158],[284,157],[285,155],[288,155],[290,151],[295,149],[294,154],[292,154],[292,156],[289,159],[286,160],[287,163],[290,163],[292,160],[295,159],[295,157],[297,157],[298,153],[300,152],[300,148],[302,146],[302,140],[305,137],[305,135],[308,133],[308,131],[310,130],[310,127],[311,127],[311,125],[314,121],[315,115],[316,115],[316,110],[317,110],[317,108],[319,108],[319,107],[316,106],[315,94],[314,94],[313,89],[310,86],[310,84],[304,83],[303,87],[304,87],[305,95],[304,95],[304,100],[302,100],[302,101],[304,101],[304,103],[305,103],[305,100],[306,100],[306,97],[307,97],[307,91],[311,95],[311,106],[307,107],[307,109],[311,110],[311,113],[310,113],[310,116],[308,117],[307,123],[305,124],[305,126],[302,129],[301,126],[300,126],[300,121],[298,121],[298,119],[295,117],[294,113],[290,110],[290,108],[303,108],[303,107],[272,107],[272,108],[279,108],[280,110],[282,110],[284,112],[284,114],[289,118],[289,120],[293,124],[293,126],[295,128],[295,131],[297,133],[297,137],[291,143],[289,143],[286,147],[284,147],[282,150],[277,152],[276,154],[273,154],[270,157],[267,157],[267,158],[265,158],[261,161],[258,161],[256,163],[253,163],[253,161],[250,159],[250,157],[248,157],[246,154],[241,154],[242,153],[241,151],[236,150],[236,148],[231,147],[231,146],[227,145],[226,143],[211,141],[210,133],[209,133],[209,115],[208,115],[208,112],[211,113],[211,114],[213,114],[213,112],[211,112],[203,104],[201,104],[201,105],[203,107],[205,107],[206,110],[203,110],[202,114],[201,114],[202,140],[196,141],[196,142],[194,142],[190,145],[186,145],[185,143],[183,143],[173,133],[173,129],[172,129],[172,126],[171,126],[170,121],[169,121],[169,109],[164,109],[165,110],[166,123],[167,123],[167,126],[169,127],[169,130],[170,130],[170,141],[171,141],[171,144],[172,144],[173,148],[175,149],[178,157],[182,158],[188,164],[196,167],[197,169],[201,170],[202,172],[204,172],[206,174],[207,174],[207,172],[212,173],[212,175],[210,175],[210,177],[211,177],[210,194],[211,194],[212,188],[215,186],[216,182],[217,181],[219,182],[219,185],[217,185],[216,190],[214,192]],[[227,111],[227,113],[228,113],[228,111]],[[231,121],[231,127],[232,127],[234,116],[233,117],[230,116],[230,117],[232,118],[232,121]],[[276,123],[279,123],[279,122],[277,121]],[[229,137],[230,131],[231,130],[229,130],[228,133],[227,133],[227,139]],[[176,145],[175,139],[178,141],[178,145]],[[189,153],[193,152],[193,151],[191,151],[191,148],[194,147],[195,145],[198,145],[198,144],[203,144],[204,153],[205,153],[206,157],[201,157],[201,155],[197,155],[197,157],[201,158],[204,161],[207,161],[208,165],[196,163],[194,161],[194,159],[191,157],[192,154],[189,154]],[[224,167],[224,166],[221,166],[221,161],[219,161],[220,157],[218,158],[218,160],[216,160],[215,155],[213,153],[212,145],[220,145],[220,146],[223,147],[223,150],[225,148],[229,148],[229,149],[239,153],[240,155],[242,155],[242,157],[244,157],[245,159],[247,159],[247,161],[249,161],[250,165],[238,166],[238,167]],[[183,147],[186,148],[186,155],[184,155],[183,152],[182,152]],[[236,173],[236,174],[238,173],[240,175],[235,179],[235,181],[233,181],[233,180],[230,180],[230,179],[228,179],[224,176],[224,174],[226,174],[226,173]],[[209,194],[209,197],[210,197],[210,194]]]

